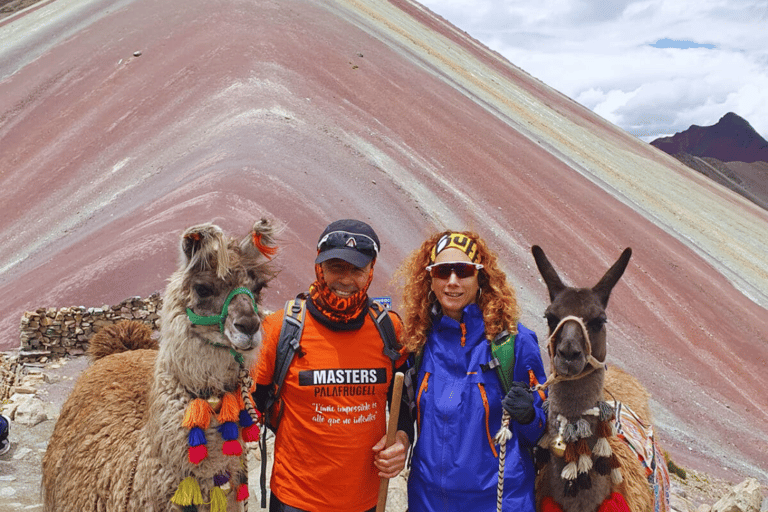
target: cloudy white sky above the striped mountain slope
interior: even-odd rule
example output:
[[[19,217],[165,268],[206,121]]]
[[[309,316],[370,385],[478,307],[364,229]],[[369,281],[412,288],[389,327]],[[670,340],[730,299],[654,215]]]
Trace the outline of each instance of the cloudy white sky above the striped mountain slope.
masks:
[[[650,142],[735,112],[768,139],[768,0],[419,0]]]

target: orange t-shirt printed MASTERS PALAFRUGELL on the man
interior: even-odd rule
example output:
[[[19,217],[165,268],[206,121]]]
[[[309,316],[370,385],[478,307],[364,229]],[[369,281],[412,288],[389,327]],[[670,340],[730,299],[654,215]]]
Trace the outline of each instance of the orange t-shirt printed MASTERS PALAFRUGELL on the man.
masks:
[[[390,315],[397,338],[402,329]],[[256,382],[269,385],[283,310],[263,323]],[[281,391],[271,490],[286,505],[362,512],[376,506],[378,470],[371,448],[386,433],[392,361],[370,316],[356,331],[332,331],[306,313],[303,357],[294,357]]]

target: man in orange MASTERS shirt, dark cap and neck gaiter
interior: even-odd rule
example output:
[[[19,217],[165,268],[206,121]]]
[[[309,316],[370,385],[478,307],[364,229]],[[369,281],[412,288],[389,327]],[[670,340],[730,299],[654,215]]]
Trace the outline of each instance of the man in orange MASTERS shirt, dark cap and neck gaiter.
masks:
[[[380,478],[405,466],[413,420],[403,393],[396,441],[385,449],[393,363],[368,314],[379,247],[373,229],[358,220],[333,222],[320,236],[301,347],[280,391],[270,512],[373,511]],[[387,314],[399,340],[400,319]],[[263,323],[255,392],[262,412],[283,315],[277,311]]]

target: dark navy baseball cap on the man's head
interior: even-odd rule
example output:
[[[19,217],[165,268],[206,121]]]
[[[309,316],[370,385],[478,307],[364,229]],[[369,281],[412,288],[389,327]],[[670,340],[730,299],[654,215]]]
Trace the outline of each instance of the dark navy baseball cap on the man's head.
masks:
[[[361,220],[341,219],[325,228],[317,241],[317,259],[322,263],[338,258],[363,268],[379,254],[379,237]]]

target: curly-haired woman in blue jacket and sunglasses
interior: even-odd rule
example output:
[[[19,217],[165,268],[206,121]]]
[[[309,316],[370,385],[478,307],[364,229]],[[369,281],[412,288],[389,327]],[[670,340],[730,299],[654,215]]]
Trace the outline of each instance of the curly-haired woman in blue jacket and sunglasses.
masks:
[[[496,510],[506,409],[502,509],[534,512],[532,449],[544,432],[546,376],[536,334],[517,323],[514,291],[496,255],[472,232],[432,236],[404,263],[404,343],[415,352],[413,399],[419,433],[408,479],[409,512]],[[514,343],[514,381],[504,392],[491,343]],[[509,359],[509,358],[508,358]],[[498,358],[497,358],[498,360]]]

